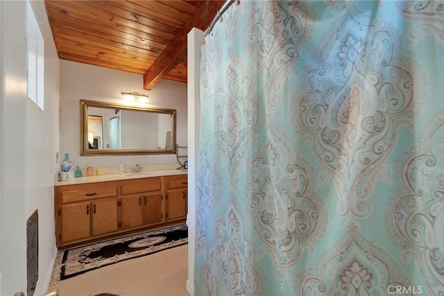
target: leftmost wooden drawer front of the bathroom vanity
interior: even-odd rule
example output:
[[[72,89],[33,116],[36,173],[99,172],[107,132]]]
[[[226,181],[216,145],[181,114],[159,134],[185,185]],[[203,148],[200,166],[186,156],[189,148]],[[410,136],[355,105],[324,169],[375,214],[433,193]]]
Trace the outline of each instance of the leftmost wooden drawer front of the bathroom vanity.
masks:
[[[88,186],[89,188],[73,188],[71,190],[63,190],[60,192],[62,203],[81,202],[83,200],[98,199],[102,197],[117,197],[117,186]]]

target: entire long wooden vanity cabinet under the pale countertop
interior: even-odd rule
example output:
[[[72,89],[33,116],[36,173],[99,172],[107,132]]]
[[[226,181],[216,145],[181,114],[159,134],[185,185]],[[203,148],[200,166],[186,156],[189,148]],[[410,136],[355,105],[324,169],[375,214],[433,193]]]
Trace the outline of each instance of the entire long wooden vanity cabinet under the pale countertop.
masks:
[[[56,186],[54,206],[59,248],[184,222],[187,175]]]

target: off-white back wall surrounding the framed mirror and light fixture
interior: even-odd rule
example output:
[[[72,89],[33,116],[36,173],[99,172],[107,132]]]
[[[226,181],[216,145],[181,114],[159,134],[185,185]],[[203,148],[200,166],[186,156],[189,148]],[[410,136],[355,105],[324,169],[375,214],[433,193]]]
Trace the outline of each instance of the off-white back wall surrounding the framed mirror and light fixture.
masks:
[[[125,104],[121,92],[148,94],[148,106],[177,110],[176,141],[187,146],[187,84],[162,80],[143,89],[143,76],[104,67],[60,60],[60,151],[80,167],[177,163],[175,154],[139,156],[80,156],[80,99]]]

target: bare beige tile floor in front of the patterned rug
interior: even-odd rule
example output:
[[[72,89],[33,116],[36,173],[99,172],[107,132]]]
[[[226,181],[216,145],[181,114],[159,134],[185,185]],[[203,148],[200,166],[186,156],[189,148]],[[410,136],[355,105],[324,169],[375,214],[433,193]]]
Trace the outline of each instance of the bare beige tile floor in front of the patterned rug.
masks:
[[[59,281],[59,296],[188,296],[188,245],[130,259]]]

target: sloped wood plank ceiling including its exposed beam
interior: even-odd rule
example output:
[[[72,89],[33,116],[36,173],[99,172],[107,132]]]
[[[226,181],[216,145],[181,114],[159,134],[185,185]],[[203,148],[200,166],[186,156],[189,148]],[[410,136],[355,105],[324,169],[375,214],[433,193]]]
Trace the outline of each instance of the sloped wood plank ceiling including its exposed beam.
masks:
[[[45,0],[61,59],[187,82],[187,33],[205,30],[225,1]]]

